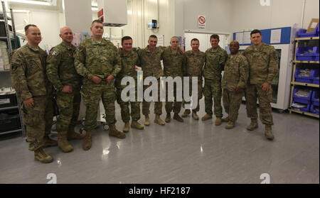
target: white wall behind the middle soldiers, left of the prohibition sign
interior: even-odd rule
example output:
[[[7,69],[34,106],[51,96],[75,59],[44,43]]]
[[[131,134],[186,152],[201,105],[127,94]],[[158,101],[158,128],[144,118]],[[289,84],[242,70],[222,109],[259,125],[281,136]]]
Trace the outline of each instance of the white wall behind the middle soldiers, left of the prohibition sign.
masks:
[[[145,48],[148,45],[149,35],[164,35],[165,45],[169,45],[170,38],[174,36],[174,1],[159,1],[160,18],[158,20],[158,9],[156,0],[127,0],[128,24],[120,28],[105,27],[105,33],[112,33],[114,45],[121,44],[119,40],[123,35],[133,38],[134,47]],[[92,19],[97,19],[97,14],[92,13]],[[146,29],[146,23],[152,19],[159,21],[159,30],[152,31]]]

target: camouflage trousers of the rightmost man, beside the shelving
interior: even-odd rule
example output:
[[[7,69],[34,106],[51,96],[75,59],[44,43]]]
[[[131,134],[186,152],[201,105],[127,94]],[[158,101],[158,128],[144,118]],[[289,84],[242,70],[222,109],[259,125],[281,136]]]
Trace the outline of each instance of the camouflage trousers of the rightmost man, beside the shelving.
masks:
[[[272,88],[271,85],[267,92],[263,92],[260,84],[247,84],[245,89],[245,101],[247,103],[247,117],[257,119],[257,99],[260,106],[260,120],[264,124],[273,125],[272,119]]]

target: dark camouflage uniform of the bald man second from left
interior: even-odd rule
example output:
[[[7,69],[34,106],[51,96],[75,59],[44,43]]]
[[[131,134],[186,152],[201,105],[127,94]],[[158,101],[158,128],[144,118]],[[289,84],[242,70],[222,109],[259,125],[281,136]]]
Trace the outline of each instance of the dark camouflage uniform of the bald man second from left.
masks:
[[[53,87],[57,90],[59,117],[57,131],[68,131],[76,125],[80,111],[80,88],[82,78],[75,70],[73,53],[75,46],[60,43],[50,50],[47,58],[47,75]],[[73,88],[72,93],[61,92],[65,85]]]

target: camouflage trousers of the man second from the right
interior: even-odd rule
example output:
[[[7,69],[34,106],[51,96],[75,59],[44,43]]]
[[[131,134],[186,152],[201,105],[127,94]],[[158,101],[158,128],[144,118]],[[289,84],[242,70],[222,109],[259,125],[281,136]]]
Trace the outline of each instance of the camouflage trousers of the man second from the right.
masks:
[[[239,94],[235,92],[230,92],[227,89],[223,89],[223,106],[225,107],[225,112],[228,114],[230,121],[237,121],[238,113],[240,109],[241,100],[244,92],[241,91]]]

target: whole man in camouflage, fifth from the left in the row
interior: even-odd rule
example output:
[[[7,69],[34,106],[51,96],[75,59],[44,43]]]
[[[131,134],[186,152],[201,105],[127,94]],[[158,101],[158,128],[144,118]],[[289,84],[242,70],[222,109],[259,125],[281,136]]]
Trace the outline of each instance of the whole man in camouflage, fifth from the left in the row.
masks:
[[[156,77],[158,79],[158,101],[154,102],[154,114],[156,114],[156,118],[154,119],[154,123],[158,123],[161,126],[164,126],[164,121],[161,120],[160,115],[162,114],[162,101],[160,101],[160,77],[162,77],[163,71],[161,67],[161,55],[164,53],[164,47],[159,46],[156,47],[156,43],[158,43],[158,38],[156,35],[150,35],[148,40],[149,45],[146,48],[139,50],[139,58],[140,64],[142,67],[142,71],[144,72],[144,79],[146,77]],[[150,86],[144,85],[144,91]],[[144,114],[144,125],[149,126],[149,111],[150,102],[143,101],[142,102],[142,114]]]

